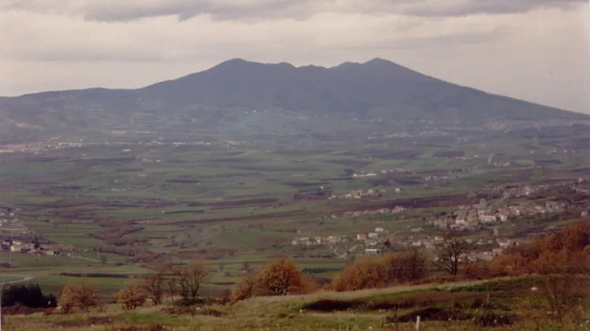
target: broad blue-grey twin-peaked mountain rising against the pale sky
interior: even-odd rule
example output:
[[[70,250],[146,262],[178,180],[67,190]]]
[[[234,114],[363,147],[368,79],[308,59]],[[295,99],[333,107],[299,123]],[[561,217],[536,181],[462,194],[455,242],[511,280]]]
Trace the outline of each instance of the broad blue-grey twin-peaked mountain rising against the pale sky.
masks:
[[[91,88],[0,98],[0,128],[103,130],[132,118],[151,127],[158,127],[156,119],[190,118],[197,127],[211,128],[250,110],[466,125],[490,119],[588,119],[447,83],[380,58],[332,68],[233,59],[135,90]]]

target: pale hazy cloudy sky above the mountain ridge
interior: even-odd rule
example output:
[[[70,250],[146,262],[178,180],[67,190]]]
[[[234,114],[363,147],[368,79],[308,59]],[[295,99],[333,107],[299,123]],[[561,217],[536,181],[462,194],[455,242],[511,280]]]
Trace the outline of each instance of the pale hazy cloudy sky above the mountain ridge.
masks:
[[[0,95],[380,57],[590,113],[589,15],[588,0],[0,0]]]

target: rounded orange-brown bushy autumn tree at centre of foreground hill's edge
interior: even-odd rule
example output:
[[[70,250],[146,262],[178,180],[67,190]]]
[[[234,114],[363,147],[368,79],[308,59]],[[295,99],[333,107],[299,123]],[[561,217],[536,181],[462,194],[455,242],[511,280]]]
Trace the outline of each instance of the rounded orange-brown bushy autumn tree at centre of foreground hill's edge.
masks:
[[[279,258],[267,263],[256,275],[256,283],[263,295],[288,295],[302,290],[302,273],[293,260]]]

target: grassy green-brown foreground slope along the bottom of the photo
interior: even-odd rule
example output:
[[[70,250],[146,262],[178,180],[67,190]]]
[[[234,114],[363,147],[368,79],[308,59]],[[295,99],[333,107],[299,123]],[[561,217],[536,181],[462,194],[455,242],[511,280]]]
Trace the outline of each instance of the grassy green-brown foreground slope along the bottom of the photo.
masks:
[[[176,307],[133,312],[108,305],[72,315],[5,316],[4,330],[590,330],[580,305],[563,323],[546,315],[535,278],[504,278],[380,290],[260,297],[235,305]],[[584,298],[587,300],[588,298]],[[587,306],[586,306],[587,307]]]

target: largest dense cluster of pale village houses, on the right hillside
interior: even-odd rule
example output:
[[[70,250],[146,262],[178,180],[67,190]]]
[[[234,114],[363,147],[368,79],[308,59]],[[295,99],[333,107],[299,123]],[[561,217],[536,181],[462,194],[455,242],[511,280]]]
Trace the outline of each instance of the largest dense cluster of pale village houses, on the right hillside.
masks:
[[[504,223],[514,217],[561,213],[564,210],[565,205],[556,201],[546,201],[545,204],[522,202],[516,205],[502,206],[497,209],[492,209],[487,206],[487,203],[483,200],[479,204],[474,204],[472,206],[459,206],[459,210],[455,211],[451,217],[435,219],[429,221],[429,224],[444,230],[472,231],[477,230],[484,225],[497,222]]]

